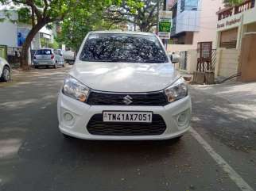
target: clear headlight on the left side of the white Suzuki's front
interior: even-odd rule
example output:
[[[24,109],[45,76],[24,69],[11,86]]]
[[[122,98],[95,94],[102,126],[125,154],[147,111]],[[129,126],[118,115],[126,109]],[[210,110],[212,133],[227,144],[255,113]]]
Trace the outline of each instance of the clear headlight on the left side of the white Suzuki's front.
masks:
[[[85,102],[87,101],[89,88],[84,86],[81,82],[78,82],[76,78],[68,76],[64,80],[62,92],[68,97],[72,97],[76,100]]]

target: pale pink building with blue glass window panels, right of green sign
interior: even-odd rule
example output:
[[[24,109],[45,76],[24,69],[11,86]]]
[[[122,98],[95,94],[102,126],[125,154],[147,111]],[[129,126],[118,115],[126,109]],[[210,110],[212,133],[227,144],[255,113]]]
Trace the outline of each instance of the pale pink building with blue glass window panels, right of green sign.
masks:
[[[211,41],[215,48],[216,9],[221,7],[222,0],[170,1],[169,10],[173,11],[170,49],[196,49],[197,43],[204,41]]]

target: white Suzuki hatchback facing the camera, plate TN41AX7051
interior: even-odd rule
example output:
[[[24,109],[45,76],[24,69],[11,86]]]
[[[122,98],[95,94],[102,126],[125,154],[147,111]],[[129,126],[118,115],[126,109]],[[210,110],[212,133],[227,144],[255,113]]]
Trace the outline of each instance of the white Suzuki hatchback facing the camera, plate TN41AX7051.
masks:
[[[191,99],[156,35],[89,32],[57,110],[65,137],[172,139],[188,131]]]

